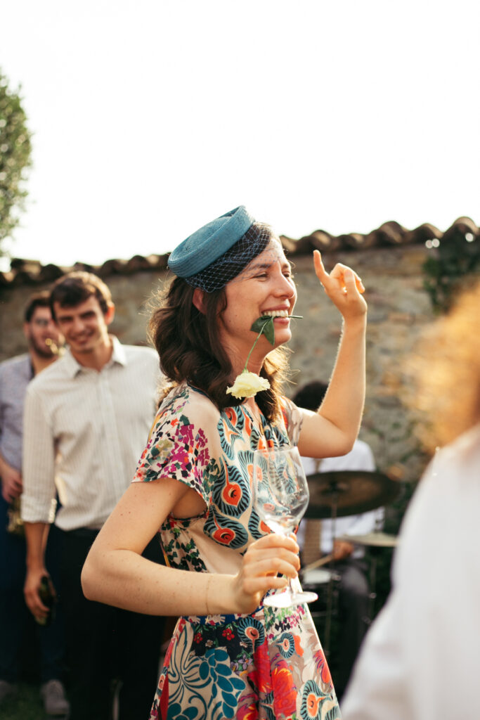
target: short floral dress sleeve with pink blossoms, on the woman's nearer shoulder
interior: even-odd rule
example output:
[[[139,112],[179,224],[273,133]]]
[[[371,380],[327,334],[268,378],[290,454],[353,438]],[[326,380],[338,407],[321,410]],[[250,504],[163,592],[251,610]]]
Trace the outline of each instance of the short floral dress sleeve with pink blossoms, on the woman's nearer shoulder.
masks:
[[[209,496],[204,473],[211,462],[207,436],[175,403],[160,408],[132,482],[171,477],[196,490],[205,503]]]

